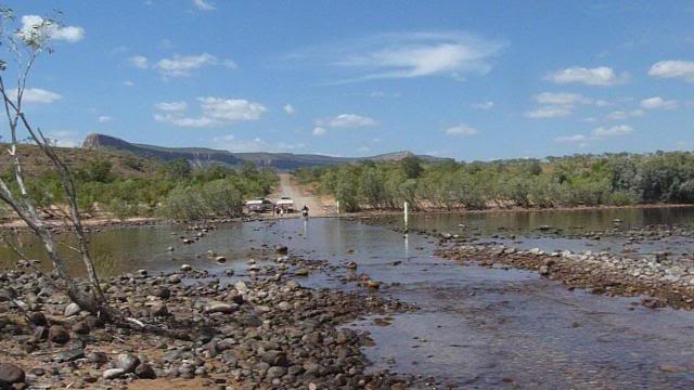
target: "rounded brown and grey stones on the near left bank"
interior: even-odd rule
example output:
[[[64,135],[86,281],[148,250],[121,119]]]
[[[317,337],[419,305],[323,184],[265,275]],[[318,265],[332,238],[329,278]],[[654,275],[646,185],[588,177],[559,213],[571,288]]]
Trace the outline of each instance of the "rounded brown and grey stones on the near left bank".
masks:
[[[283,255],[250,264],[249,278],[182,266],[104,281],[111,304],[150,330],[104,324],[21,262],[0,274],[0,388],[408,388],[415,377],[364,374],[367,334],[342,327],[413,307],[378,292],[346,264],[354,291],[300,278],[324,262]],[[223,261],[223,259],[216,259]],[[154,328],[156,332],[151,332]],[[146,385],[150,384],[150,385]]]

